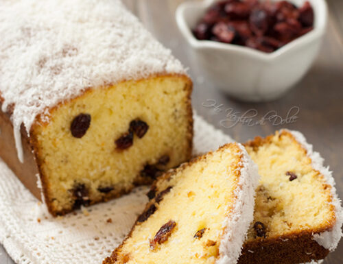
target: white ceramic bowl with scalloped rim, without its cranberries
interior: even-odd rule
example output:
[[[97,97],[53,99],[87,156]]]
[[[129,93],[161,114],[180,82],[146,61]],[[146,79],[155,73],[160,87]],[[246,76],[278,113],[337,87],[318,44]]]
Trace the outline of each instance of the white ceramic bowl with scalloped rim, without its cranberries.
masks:
[[[215,1],[182,3],[176,10],[176,21],[191,46],[192,58],[202,68],[204,77],[217,88],[244,101],[268,101],[281,97],[309,70],[327,25],[324,0],[309,0],[314,8],[314,29],[272,53],[197,40],[191,29]],[[299,6],[305,0],[291,2]]]

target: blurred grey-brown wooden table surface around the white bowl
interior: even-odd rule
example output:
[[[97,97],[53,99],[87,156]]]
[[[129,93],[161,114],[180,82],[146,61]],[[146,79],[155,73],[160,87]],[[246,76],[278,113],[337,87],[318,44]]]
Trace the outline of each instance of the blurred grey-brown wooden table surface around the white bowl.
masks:
[[[254,120],[263,118],[268,112],[286,117],[293,106],[299,109],[298,119],[283,128],[300,130],[307,140],[314,144],[314,149],[322,154],[326,165],[334,171],[337,189],[343,197],[343,1],[329,0],[329,27],[324,43],[314,66],[303,80],[283,98],[263,104],[246,104],[230,99],[204,80],[201,69],[192,64],[187,43],[182,39],[174,20],[176,7],[182,0],[124,0],[128,8],[143,22],[145,27],[158,38],[186,67],[194,82],[193,107],[204,119],[233,136],[236,141],[244,142],[257,135],[266,136],[281,128],[265,122],[263,125],[248,126],[237,123],[233,128],[225,128],[222,120],[226,119],[224,110],[233,108],[239,116],[254,109]],[[205,107],[208,100],[222,104],[222,111]],[[0,263],[12,264],[8,254],[0,245]],[[325,259],[324,264],[343,263],[343,241]]]

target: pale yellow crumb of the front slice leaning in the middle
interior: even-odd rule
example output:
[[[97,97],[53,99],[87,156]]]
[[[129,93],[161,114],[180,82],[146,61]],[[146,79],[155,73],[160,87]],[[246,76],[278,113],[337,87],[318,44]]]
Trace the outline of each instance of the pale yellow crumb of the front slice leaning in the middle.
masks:
[[[156,197],[146,209],[156,206],[156,211],[143,222],[139,217],[128,239],[113,253],[112,261],[117,260],[113,263],[215,263],[241,166],[239,147],[229,146],[158,180],[152,187]],[[169,238],[152,248],[151,241],[169,221],[175,222]]]

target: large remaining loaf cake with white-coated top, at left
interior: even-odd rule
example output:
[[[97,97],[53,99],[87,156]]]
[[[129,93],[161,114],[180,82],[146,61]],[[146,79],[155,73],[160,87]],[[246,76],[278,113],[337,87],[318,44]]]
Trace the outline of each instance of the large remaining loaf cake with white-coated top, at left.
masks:
[[[52,215],[191,157],[191,80],[121,1],[1,1],[0,36],[0,156]]]

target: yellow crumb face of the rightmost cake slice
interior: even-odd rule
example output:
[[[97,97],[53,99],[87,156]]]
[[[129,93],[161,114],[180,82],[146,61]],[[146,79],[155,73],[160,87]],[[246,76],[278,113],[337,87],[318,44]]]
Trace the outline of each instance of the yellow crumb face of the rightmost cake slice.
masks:
[[[306,150],[292,134],[276,132],[260,143],[248,144],[246,149],[261,175],[246,243],[331,228],[335,220],[329,204],[331,188],[313,169]],[[257,222],[264,227],[254,227]]]

